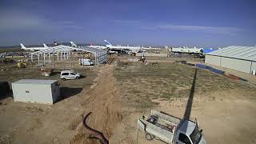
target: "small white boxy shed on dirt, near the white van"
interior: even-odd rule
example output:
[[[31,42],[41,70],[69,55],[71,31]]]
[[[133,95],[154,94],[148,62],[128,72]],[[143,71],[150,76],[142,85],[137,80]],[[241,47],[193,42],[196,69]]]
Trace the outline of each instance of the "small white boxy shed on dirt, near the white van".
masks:
[[[22,79],[13,82],[14,102],[38,102],[53,104],[60,98],[56,80]]]

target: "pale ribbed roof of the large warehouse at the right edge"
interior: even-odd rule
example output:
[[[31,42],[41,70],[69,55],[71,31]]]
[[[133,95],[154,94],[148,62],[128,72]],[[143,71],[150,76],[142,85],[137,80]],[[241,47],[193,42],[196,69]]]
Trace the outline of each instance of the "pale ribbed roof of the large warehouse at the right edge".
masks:
[[[227,46],[206,55],[239,58],[256,62],[256,46]]]

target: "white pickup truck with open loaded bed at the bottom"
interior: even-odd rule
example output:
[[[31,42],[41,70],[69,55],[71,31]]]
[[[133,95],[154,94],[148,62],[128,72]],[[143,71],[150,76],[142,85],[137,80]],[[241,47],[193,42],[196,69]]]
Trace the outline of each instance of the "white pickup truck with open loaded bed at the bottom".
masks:
[[[151,110],[149,117],[138,118],[138,128],[147,140],[158,139],[173,144],[206,144],[198,122],[176,118],[161,111]]]

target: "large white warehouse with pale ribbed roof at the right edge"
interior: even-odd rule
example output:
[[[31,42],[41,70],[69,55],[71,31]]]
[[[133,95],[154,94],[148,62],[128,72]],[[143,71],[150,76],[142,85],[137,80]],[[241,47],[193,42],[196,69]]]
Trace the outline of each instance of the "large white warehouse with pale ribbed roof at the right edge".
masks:
[[[206,63],[252,74],[256,70],[256,46],[227,46],[206,54]]]

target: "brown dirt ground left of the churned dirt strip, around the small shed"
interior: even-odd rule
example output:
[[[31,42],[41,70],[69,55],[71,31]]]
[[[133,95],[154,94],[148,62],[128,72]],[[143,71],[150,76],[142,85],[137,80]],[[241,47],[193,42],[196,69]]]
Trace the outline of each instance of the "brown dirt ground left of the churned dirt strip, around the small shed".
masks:
[[[0,99],[0,143],[70,143],[82,121],[85,94],[93,85],[98,69],[76,70],[83,78],[59,80],[62,100],[54,105],[14,102]],[[0,71],[1,80],[14,82],[21,78],[59,79],[60,70],[47,78],[37,69]]]

